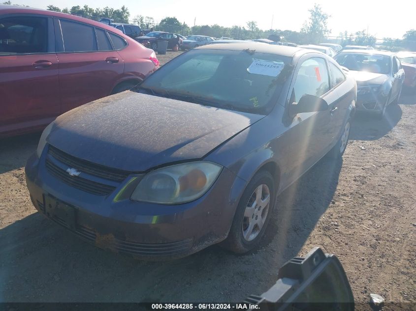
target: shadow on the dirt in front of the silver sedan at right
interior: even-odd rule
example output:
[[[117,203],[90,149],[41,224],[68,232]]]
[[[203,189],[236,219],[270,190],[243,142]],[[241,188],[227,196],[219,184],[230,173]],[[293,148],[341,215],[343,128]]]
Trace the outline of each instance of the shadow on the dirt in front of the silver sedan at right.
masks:
[[[399,105],[387,106],[382,119],[369,113],[357,112],[352,120],[350,140],[378,140],[390,132],[401,118],[402,109]]]

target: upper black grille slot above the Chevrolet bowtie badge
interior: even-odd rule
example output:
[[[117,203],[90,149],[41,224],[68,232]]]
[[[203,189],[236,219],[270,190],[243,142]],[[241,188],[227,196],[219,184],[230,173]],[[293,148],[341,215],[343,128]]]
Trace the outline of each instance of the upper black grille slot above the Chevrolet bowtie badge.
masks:
[[[128,171],[108,168],[99,164],[95,164],[86,160],[78,159],[71,156],[64,151],[49,145],[48,155],[54,157],[59,162],[67,165],[70,168],[80,170],[81,172],[88,173],[90,175],[108,179],[115,182],[122,182],[129,174]]]

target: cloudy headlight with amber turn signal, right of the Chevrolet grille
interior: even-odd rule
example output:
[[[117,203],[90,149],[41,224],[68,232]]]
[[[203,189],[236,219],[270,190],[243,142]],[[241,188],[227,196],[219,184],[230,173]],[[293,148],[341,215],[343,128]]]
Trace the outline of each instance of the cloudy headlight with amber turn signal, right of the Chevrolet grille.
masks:
[[[134,201],[180,204],[202,197],[222,167],[211,162],[177,164],[146,174],[131,195]]]

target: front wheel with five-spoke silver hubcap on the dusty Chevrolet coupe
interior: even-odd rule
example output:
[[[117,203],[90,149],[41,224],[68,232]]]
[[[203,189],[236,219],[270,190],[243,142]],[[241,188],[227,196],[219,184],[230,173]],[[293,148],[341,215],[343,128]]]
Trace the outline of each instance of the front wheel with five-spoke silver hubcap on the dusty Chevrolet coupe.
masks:
[[[265,170],[257,172],[238,203],[228,237],[220,245],[237,254],[256,248],[269,223],[274,202],[272,175]]]

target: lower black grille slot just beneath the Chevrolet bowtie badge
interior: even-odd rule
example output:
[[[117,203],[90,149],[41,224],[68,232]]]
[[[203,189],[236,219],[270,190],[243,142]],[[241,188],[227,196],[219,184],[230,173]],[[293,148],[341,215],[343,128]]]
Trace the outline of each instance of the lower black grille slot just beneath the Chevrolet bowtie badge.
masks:
[[[79,176],[70,176],[66,171],[62,170],[49,159],[46,159],[46,169],[51,175],[62,180],[64,183],[97,196],[109,195],[116,189],[114,186],[97,183]]]

